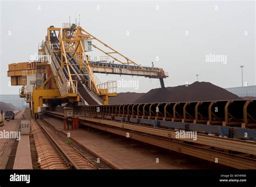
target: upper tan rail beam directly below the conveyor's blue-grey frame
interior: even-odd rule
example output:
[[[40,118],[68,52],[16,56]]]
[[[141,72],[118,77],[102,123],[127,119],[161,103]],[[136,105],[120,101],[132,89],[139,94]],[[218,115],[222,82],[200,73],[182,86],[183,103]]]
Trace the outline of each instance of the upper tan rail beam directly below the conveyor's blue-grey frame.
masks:
[[[63,117],[63,113],[52,112],[52,111],[43,111],[49,114],[56,114],[56,116]],[[163,138],[176,139],[176,132],[174,130],[167,130],[165,128],[156,128],[144,125],[136,125],[131,123],[122,123],[119,121],[99,119],[93,117],[86,117],[83,115],[75,115],[75,118],[78,118],[82,121],[90,121],[91,123],[104,124],[118,128],[124,128],[126,130],[136,131],[139,133],[147,133],[155,136],[160,136]],[[187,142],[195,142],[197,144],[213,146],[223,149],[232,150],[235,152],[246,153],[251,155],[256,155],[256,143],[251,141],[244,141],[239,139],[223,138],[219,136],[210,136],[205,134],[197,134],[197,140],[193,139],[183,139]]]

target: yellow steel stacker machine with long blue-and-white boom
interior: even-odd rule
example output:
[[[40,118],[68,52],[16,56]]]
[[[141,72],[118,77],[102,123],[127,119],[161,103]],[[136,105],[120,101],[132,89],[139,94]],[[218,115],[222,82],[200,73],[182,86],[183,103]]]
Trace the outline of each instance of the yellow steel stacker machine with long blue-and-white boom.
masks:
[[[104,49],[92,44],[98,41]],[[111,57],[117,63],[92,61],[87,52],[92,47]],[[123,57],[126,62],[113,56]],[[95,73],[137,75],[159,78],[168,77],[163,69],[143,67],[117,52],[112,47],[94,37],[75,24],[63,24],[62,28],[48,27],[45,41],[38,47],[37,59],[32,62],[9,64],[8,76],[11,85],[22,85],[20,97],[30,104],[32,114],[38,117],[43,104],[55,107],[62,103],[77,105],[108,104],[108,98],[117,95],[116,81],[102,83]]]

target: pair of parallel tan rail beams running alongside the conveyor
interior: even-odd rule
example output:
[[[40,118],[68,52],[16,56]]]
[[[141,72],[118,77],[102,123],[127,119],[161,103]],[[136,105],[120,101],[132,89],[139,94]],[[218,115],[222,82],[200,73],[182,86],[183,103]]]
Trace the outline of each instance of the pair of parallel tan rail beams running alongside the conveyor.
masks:
[[[61,113],[54,112],[53,114],[62,118]],[[198,142],[193,143],[190,139],[175,139],[175,131],[171,130],[84,116],[76,116],[76,118],[86,126],[126,137],[129,133],[129,138],[154,146],[237,169],[256,169],[255,142],[199,134]]]

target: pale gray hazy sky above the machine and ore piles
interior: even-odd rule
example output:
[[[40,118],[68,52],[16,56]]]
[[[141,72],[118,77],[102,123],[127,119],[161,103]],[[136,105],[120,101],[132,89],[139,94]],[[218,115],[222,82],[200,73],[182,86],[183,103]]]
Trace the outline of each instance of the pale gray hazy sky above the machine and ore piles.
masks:
[[[196,74],[199,81],[239,87],[241,65],[244,81],[256,84],[254,1],[1,1],[0,94],[18,93],[19,87],[8,85],[8,64],[29,61],[47,27],[61,27],[69,16],[74,23],[76,14],[80,26],[130,59],[164,68],[170,76],[166,87],[193,83]],[[206,62],[208,54],[225,55],[227,61]],[[139,81],[138,90],[118,92],[160,87],[159,80],[145,77],[97,76],[103,82]]]

